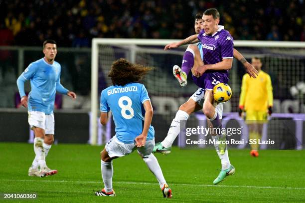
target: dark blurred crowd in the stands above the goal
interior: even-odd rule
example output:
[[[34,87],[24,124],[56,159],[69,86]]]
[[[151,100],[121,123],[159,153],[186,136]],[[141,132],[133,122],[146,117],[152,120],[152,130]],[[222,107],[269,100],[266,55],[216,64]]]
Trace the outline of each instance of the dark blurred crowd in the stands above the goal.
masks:
[[[181,39],[220,11],[234,39],[305,41],[304,0],[0,0],[0,45],[90,47],[93,37]]]

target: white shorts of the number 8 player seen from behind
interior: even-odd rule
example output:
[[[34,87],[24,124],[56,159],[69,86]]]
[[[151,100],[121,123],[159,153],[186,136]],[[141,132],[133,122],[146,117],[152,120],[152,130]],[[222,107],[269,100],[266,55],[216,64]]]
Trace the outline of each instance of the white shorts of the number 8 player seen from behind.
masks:
[[[147,140],[144,147],[138,147],[134,143],[125,144],[118,140],[117,136],[113,136],[106,144],[105,149],[108,152],[109,157],[123,157],[129,155],[136,149],[141,156],[148,156],[152,153],[154,147],[154,139]]]

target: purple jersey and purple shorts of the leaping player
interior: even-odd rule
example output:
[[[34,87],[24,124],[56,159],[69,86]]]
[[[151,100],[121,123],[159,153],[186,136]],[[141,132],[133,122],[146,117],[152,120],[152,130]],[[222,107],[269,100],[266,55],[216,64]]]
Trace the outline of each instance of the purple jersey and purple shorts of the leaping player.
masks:
[[[215,64],[222,59],[233,58],[233,37],[224,29],[224,26],[218,25],[218,30],[213,35],[206,35],[204,30],[198,34],[198,39],[202,43],[203,63]],[[227,83],[229,80],[228,70],[208,70],[200,77],[192,75],[195,84],[204,89],[213,89],[219,82]]]

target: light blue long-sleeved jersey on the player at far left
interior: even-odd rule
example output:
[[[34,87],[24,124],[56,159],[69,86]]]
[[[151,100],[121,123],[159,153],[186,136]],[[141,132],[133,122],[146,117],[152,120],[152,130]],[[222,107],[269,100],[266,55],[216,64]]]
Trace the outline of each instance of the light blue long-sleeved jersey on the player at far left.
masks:
[[[56,91],[67,94],[60,84],[61,66],[56,61],[48,64],[44,58],[29,64],[17,79],[20,97],[25,96],[24,82],[30,80],[31,92],[28,96],[28,111],[41,111],[51,114],[54,109]]]

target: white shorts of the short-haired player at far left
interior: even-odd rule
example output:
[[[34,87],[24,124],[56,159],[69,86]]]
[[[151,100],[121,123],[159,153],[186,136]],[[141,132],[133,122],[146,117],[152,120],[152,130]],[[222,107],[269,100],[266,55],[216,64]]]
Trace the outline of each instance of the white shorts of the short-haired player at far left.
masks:
[[[40,111],[28,111],[28,124],[31,128],[38,127],[45,131],[45,134],[54,135],[54,114],[46,115]]]

